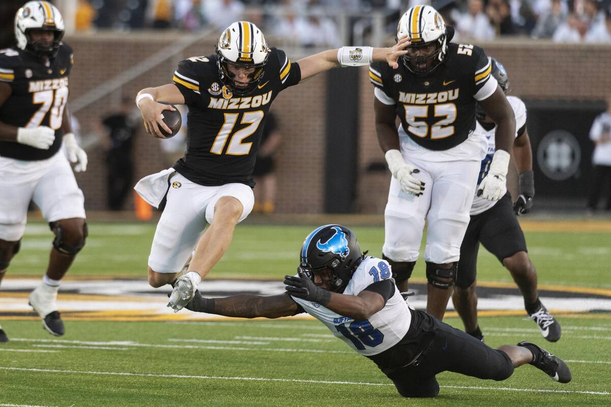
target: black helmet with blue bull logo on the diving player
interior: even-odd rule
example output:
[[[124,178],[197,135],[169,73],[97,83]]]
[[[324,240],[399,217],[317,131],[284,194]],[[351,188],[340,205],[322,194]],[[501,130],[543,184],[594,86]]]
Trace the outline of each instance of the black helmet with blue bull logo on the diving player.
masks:
[[[331,291],[343,292],[362,254],[356,235],[346,226],[324,225],[314,229],[305,238],[299,256],[298,272],[314,281],[313,272],[326,268],[333,270]]]

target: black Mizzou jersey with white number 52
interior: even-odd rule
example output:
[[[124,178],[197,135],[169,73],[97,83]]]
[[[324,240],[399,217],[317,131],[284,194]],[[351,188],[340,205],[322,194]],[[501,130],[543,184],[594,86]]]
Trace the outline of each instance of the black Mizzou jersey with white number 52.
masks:
[[[483,89],[488,81],[496,83],[490,73],[483,49],[450,43],[444,62],[427,76],[412,73],[402,62],[396,70],[386,62],[374,62],[369,77],[395,102],[409,137],[439,151],[459,145],[474,131],[475,103],[494,92],[492,82]]]

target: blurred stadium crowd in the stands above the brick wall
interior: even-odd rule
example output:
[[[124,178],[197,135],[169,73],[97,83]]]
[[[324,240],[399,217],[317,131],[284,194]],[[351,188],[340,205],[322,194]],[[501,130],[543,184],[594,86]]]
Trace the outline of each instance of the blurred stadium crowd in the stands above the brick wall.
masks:
[[[431,4],[456,27],[456,40],[491,41],[505,36],[553,38],[561,43],[610,43],[611,0],[58,0],[75,10],[74,30],[224,29],[249,20],[269,35],[294,38],[301,46],[338,46],[338,16],[371,29],[380,16],[392,35],[404,10]]]

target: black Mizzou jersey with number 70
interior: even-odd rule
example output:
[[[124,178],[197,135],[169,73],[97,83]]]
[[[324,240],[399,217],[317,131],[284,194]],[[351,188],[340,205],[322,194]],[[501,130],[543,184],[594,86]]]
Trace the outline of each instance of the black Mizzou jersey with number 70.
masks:
[[[18,48],[0,50],[0,81],[11,88],[9,98],[0,106],[0,121],[17,127],[48,126],[55,130],[55,141],[49,149],[0,141],[1,157],[32,161],[57,153],[64,135],[62,118],[72,64],[72,49],[64,43],[48,64]]]

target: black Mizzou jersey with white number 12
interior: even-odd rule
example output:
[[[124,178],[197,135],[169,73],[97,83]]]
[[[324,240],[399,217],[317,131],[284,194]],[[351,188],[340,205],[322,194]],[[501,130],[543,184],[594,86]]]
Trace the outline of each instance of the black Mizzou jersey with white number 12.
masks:
[[[301,80],[298,63],[271,48],[263,79],[249,95],[233,96],[219,79],[218,57],[178,63],[174,84],[185,96],[187,148],[174,168],[200,185],[254,186],[252,170],[269,107],[278,93]]]

